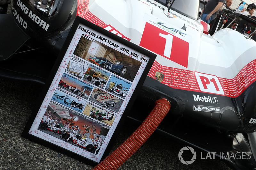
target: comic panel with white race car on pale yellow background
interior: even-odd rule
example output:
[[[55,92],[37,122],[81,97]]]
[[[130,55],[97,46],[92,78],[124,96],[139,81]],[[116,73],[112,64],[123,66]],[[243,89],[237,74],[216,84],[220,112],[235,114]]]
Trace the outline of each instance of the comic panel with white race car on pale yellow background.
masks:
[[[107,110],[100,108],[92,103],[87,103],[83,111],[84,115],[91,116],[93,119],[99,120],[106,125],[112,126],[116,115],[108,112]]]

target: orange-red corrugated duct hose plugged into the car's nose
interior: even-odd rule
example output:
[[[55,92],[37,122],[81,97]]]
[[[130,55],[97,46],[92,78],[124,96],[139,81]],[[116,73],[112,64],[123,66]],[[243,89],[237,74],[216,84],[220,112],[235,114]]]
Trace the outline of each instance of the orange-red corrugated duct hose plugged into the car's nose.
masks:
[[[92,170],[116,170],[119,168],[146,142],[150,135],[152,135],[165,115],[169,112],[170,108],[171,104],[167,99],[157,100],[155,107],[141,123],[139,128]]]

